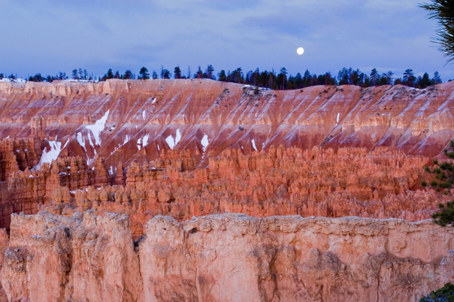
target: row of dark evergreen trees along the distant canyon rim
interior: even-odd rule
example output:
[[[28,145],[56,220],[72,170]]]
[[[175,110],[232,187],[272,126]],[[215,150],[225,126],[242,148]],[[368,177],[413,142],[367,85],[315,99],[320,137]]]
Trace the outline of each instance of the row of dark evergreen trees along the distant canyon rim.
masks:
[[[214,73],[214,68],[212,65],[208,65],[205,71],[203,71],[200,66],[196,73],[191,74],[191,68],[188,68],[186,75],[183,74],[183,71],[180,69],[180,66],[174,68],[173,73],[170,70],[161,67],[161,73],[156,73],[156,70],[152,71],[150,76],[147,68],[142,67],[139,70],[139,73],[136,75],[131,70],[126,70],[124,73],[120,74],[119,71],[114,71],[112,68],[108,70],[103,77],[93,77],[93,74],[89,74],[86,69],[78,68],[74,69],[71,72],[71,79],[73,80],[82,80],[82,81],[105,81],[108,79],[138,79],[138,80],[148,80],[148,79],[212,79],[218,80],[221,82],[233,82],[238,84],[250,84],[254,86],[261,86],[269,89],[301,89],[308,86],[315,85],[344,85],[351,84],[361,87],[369,86],[381,86],[381,85],[393,85],[393,84],[403,84],[413,88],[423,89],[427,86],[433,84],[441,83],[441,78],[439,73],[436,71],[433,77],[430,77],[428,73],[424,73],[423,76],[416,77],[412,69],[405,70],[402,77],[394,77],[392,71],[387,73],[379,73],[376,68],[373,68],[371,72],[367,75],[366,73],[361,72],[359,69],[353,68],[342,68],[337,73],[337,77],[333,77],[331,73],[327,72],[321,75],[316,75],[315,73],[310,73],[309,70],[306,70],[305,73],[297,73],[296,75],[288,75],[286,68],[281,68],[279,73],[271,70],[260,71],[258,68],[252,71],[249,70],[246,73],[243,73],[242,68],[237,68],[233,71],[221,70],[219,73]],[[0,73],[0,80],[5,77],[3,73]],[[9,76],[10,79],[14,79],[14,75]],[[41,73],[30,76],[28,78],[31,82],[52,82],[53,80],[67,80],[68,76],[66,73],[59,73],[58,75],[47,75],[46,77],[42,76]]]

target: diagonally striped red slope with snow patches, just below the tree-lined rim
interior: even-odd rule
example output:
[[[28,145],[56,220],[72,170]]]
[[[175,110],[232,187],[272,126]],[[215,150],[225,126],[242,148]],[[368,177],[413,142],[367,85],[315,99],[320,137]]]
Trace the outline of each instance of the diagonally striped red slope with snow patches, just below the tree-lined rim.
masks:
[[[198,152],[198,165],[233,147],[390,146],[437,156],[454,137],[452,82],[311,86],[270,91],[212,80],[0,83],[0,139],[38,137],[52,156],[105,158],[111,174],[159,158]],[[44,144],[42,149],[44,149]]]

